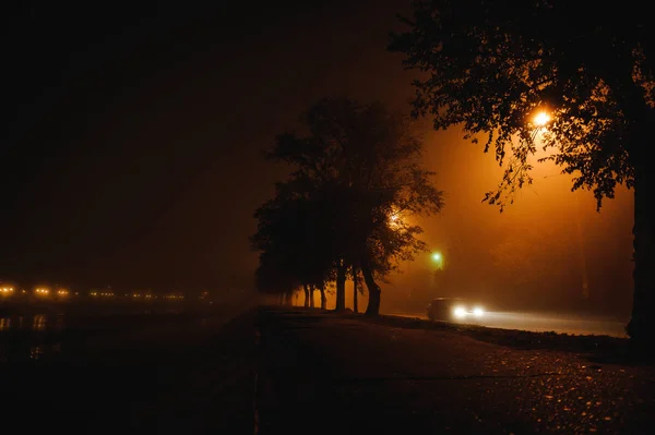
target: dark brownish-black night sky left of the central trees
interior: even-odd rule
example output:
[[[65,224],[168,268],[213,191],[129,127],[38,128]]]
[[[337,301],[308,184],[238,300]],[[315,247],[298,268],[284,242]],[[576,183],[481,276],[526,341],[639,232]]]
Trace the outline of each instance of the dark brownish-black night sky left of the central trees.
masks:
[[[409,95],[384,52],[403,2],[139,3],[3,13],[5,279],[250,282],[284,173],[261,149],[323,95]]]

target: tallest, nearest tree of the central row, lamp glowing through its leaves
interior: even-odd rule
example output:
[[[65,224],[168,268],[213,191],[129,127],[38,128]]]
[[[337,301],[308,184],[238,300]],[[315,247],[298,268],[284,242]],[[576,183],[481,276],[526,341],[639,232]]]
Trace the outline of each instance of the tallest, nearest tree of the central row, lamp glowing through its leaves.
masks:
[[[315,267],[303,267],[312,277],[323,278],[315,286],[334,275],[337,311],[345,309],[347,270],[358,268],[369,291],[367,314],[377,315],[381,290],[376,280],[426,247],[417,239],[420,227],[404,220],[392,223],[390,217],[437,213],[443,204],[442,193],[430,183],[431,172],[419,166],[421,143],[407,117],[379,102],[324,98],[310,107],[301,121],[307,135],[282,134],[267,154],[294,168],[289,180],[278,185],[278,200],[272,204],[289,197],[311,204],[315,222],[309,233],[321,240],[312,244],[322,255]],[[266,213],[255,215],[262,234],[270,232]],[[299,209],[289,207],[288,213]],[[299,228],[307,227],[298,226],[296,231]],[[288,238],[297,240],[298,234]],[[300,239],[307,243],[307,238]],[[286,237],[279,243],[289,244]],[[257,247],[266,249],[265,243]],[[305,259],[312,262],[311,257]]]

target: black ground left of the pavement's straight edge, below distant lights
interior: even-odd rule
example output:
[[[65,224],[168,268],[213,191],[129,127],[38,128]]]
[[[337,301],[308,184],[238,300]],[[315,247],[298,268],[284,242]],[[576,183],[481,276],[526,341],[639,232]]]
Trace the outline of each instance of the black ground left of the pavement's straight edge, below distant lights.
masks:
[[[40,353],[12,342],[38,334],[0,334],[0,432],[252,433],[254,312],[243,311],[69,317],[66,331],[40,333]]]

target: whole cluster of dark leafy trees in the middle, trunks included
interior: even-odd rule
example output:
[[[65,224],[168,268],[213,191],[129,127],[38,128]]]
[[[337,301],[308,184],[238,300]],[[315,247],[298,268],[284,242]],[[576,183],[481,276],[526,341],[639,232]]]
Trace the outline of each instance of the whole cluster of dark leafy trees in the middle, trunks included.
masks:
[[[422,146],[408,117],[379,102],[325,98],[301,122],[306,134],[281,134],[266,153],[291,172],[255,212],[257,286],[287,301],[299,288],[312,301],[318,289],[325,309],[334,282],[338,311],[350,277],[355,294],[366,283],[366,313],[377,315],[378,282],[427,247],[410,216],[439,212],[443,194],[420,166]]]

